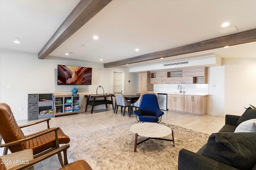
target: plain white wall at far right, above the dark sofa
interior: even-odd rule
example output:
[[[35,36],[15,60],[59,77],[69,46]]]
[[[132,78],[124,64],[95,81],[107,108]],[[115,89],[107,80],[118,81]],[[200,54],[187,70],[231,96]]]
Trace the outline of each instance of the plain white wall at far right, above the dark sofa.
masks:
[[[225,59],[225,114],[242,115],[256,106],[256,58]]]

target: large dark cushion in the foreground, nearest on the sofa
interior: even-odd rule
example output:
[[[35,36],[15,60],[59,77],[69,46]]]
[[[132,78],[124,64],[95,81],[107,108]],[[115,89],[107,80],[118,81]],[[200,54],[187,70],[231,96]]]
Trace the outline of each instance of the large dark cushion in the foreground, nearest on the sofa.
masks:
[[[201,150],[218,162],[237,169],[251,170],[256,163],[256,133],[213,133]]]

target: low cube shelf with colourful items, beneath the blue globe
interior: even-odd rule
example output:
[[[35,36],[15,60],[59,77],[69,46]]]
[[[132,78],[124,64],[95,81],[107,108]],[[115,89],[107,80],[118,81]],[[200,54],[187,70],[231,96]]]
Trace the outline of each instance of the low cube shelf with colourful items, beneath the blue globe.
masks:
[[[80,96],[54,96],[54,117],[80,113]]]

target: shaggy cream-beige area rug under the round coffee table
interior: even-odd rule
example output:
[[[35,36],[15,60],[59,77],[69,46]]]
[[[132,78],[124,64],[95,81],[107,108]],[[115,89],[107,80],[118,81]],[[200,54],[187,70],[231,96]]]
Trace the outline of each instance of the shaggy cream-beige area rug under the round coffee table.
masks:
[[[209,135],[176,125],[160,123],[174,131],[175,147],[171,141],[150,139],[137,146],[130,127],[136,121],[71,137],[68,162],[86,160],[93,170],[177,170],[178,152],[185,148],[198,151]],[[172,135],[165,137],[172,139]],[[146,137],[138,137],[138,142]]]

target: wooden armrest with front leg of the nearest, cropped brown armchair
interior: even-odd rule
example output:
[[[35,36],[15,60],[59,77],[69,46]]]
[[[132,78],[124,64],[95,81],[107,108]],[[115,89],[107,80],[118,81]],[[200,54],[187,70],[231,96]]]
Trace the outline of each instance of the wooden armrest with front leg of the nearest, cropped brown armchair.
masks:
[[[20,164],[18,166],[15,166],[14,168],[11,168],[10,170],[22,170],[22,169],[27,168],[29,166],[32,166],[32,165],[34,165],[38,162],[41,162],[42,160],[45,160],[45,159],[47,159],[47,158],[49,158],[49,157],[51,157],[55,154],[58,154],[62,151],[64,152],[64,165],[66,165],[66,164],[68,164],[68,158],[67,158],[67,154],[66,154],[68,148],[69,148],[69,145],[64,145],[64,146],[59,147],[58,149],[55,149],[55,150],[53,150],[53,151],[51,151],[47,154],[39,156],[38,158],[34,158],[32,160],[29,160],[28,164]]]

